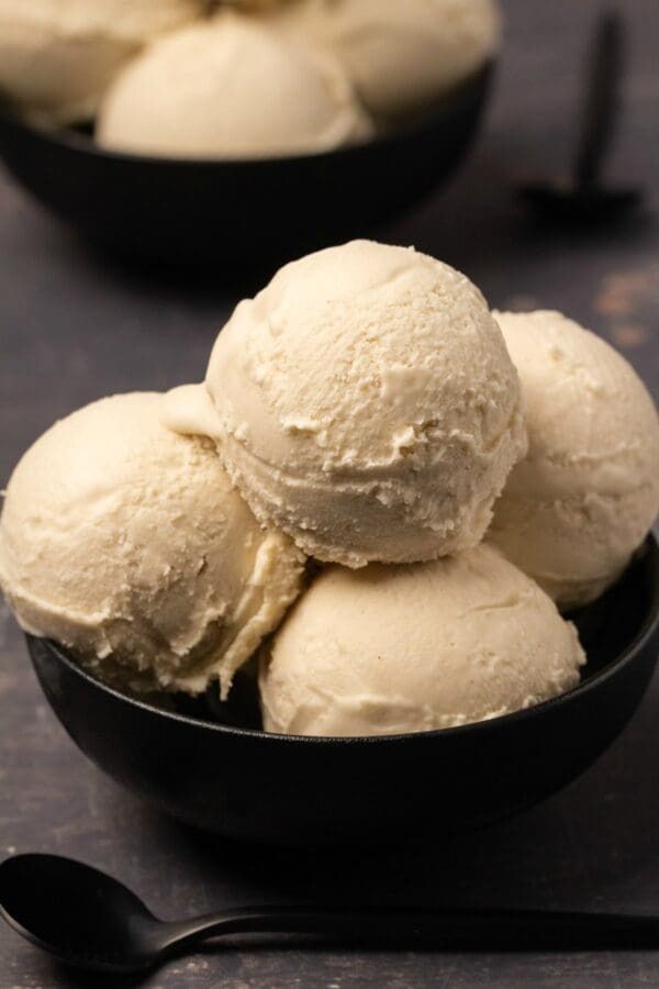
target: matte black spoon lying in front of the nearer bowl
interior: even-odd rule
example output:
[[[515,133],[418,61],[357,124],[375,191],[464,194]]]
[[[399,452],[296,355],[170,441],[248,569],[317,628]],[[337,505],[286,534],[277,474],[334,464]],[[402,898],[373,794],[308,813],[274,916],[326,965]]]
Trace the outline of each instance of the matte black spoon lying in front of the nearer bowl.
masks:
[[[470,951],[659,946],[659,918],[544,911],[254,907],[165,923],[116,879],[56,855],[0,865],[0,913],[62,962],[114,973],[149,968],[209,937],[257,933]]]

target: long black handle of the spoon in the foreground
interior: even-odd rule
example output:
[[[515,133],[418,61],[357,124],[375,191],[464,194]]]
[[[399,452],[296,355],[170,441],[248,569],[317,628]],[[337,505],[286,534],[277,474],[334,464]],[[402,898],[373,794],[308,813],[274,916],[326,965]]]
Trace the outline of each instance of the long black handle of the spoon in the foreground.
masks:
[[[164,949],[228,934],[316,934],[339,941],[495,951],[659,947],[659,918],[526,910],[270,907],[167,925]]]

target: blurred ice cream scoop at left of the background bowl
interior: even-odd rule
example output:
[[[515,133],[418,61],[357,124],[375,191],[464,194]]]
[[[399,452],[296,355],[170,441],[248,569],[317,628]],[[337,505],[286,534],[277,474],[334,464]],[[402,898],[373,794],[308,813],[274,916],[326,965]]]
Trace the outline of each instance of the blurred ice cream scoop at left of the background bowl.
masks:
[[[91,118],[118,70],[203,0],[0,0],[0,92],[55,123]]]

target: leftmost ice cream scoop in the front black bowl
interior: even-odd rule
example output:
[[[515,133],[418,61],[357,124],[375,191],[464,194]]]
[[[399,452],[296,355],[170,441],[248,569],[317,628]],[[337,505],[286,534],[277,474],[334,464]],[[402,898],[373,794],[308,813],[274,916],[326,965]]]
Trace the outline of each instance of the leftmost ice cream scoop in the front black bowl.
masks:
[[[0,519],[0,586],[20,624],[134,690],[196,693],[234,671],[300,591],[213,445],[168,431],[161,396],[94,402],[23,456]]]

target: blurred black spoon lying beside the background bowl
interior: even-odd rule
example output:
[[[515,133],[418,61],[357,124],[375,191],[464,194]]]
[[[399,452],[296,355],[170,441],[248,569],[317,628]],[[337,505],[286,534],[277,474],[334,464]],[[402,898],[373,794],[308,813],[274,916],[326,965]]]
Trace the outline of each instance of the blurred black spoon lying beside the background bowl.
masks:
[[[541,182],[520,190],[520,198],[552,220],[602,221],[639,204],[638,189],[610,188],[601,173],[618,115],[624,69],[624,23],[618,13],[602,14],[585,84],[579,144],[567,181]]]

